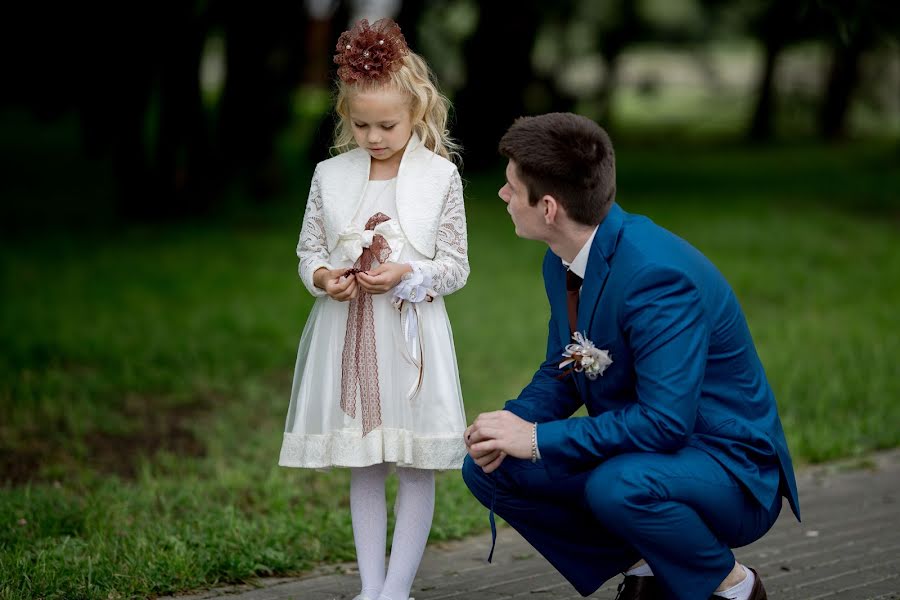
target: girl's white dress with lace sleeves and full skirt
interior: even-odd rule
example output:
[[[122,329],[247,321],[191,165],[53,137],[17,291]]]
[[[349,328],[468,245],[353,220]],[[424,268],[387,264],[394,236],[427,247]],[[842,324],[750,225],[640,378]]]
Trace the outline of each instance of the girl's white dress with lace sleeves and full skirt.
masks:
[[[305,282],[311,276],[305,273],[303,277],[304,268],[318,268],[314,265],[320,263],[314,258],[324,256],[322,206],[316,185],[314,181],[298,246]],[[359,232],[379,212],[390,217],[382,228],[391,246],[388,261],[415,264],[433,275],[436,297],[415,306],[406,303],[404,308],[414,309],[418,316],[418,339],[411,341],[405,329],[408,314],[395,307],[391,292],[372,296],[381,423],[363,435],[358,386],[351,400],[356,407],[355,417],[341,408],[342,357],[350,302],[339,302],[311,290],[319,297],[310,311],[297,352],[281,466],[362,467],[382,462],[420,469],[462,466],[466,453],[462,439],[465,412],[453,334],[440,296],[441,288],[452,291],[468,275],[465,213],[458,176],[455,185],[451,185],[438,234],[438,252],[443,248],[444,259],[452,254],[450,260],[428,259],[408,243],[397,220],[396,179],[368,183],[353,227],[345,233],[355,230],[358,242]],[[350,240],[354,235],[342,234],[341,239]],[[349,268],[358,255],[358,243],[338,243],[327,253],[327,264],[335,269]],[[460,277],[455,272],[459,268],[442,268],[445,264],[464,266],[462,282],[452,281]]]

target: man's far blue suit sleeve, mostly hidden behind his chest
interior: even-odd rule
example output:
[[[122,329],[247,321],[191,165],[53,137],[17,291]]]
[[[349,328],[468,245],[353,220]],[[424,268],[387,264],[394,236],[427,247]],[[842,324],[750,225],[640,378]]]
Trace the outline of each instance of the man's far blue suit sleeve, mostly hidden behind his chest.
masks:
[[[544,260],[544,276],[548,268],[549,253]],[[549,293],[548,293],[549,297]],[[511,413],[532,423],[546,423],[570,417],[581,406],[581,396],[575,387],[575,378],[568,376],[562,380],[557,377],[562,373],[559,363],[565,344],[559,339],[557,319],[568,319],[565,314],[553,311],[551,303],[549,331],[547,332],[547,354],[544,362],[534,374],[525,389],[515,400],[510,400],[503,407]],[[541,449],[543,452],[543,448]]]

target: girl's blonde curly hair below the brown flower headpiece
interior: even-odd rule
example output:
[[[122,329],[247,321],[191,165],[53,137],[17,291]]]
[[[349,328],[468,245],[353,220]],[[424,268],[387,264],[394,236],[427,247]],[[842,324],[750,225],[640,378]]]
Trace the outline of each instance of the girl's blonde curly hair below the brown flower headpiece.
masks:
[[[450,137],[447,129],[450,101],[438,90],[434,74],[425,60],[412,51],[402,57],[400,68],[391,71],[384,80],[353,83],[337,80],[334,109],[338,121],[334,129],[332,153],[340,154],[357,146],[350,121],[350,98],[353,94],[385,87],[402,92],[409,98],[413,131],[425,147],[459,165],[461,147]]]

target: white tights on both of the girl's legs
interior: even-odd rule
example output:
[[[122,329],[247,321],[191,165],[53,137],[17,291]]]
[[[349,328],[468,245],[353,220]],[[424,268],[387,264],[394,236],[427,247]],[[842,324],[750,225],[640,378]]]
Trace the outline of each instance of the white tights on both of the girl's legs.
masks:
[[[394,540],[385,575],[387,507],[384,481],[387,463],[350,470],[350,514],[356,560],[362,579],[361,595],[370,600],[407,600],[425,552],[434,515],[434,471],[398,467]]]

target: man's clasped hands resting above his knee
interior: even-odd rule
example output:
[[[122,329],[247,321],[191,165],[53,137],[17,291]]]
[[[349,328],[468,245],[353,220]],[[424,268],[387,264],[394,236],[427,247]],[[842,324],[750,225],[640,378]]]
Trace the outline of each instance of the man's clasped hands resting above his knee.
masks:
[[[533,423],[507,410],[478,415],[466,429],[466,447],[475,464],[490,473],[509,455],[531,458]]]

